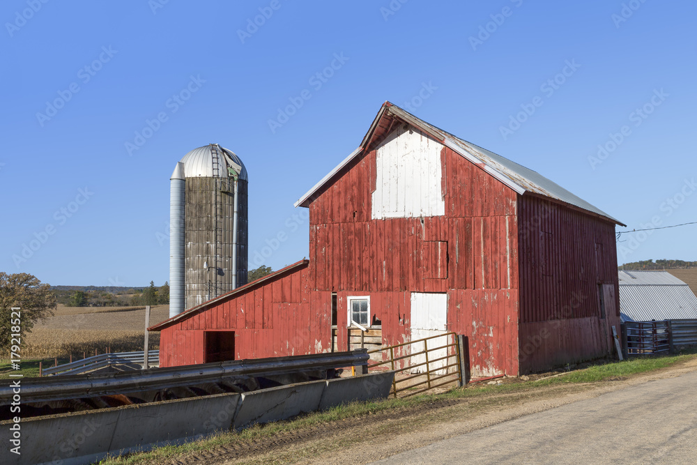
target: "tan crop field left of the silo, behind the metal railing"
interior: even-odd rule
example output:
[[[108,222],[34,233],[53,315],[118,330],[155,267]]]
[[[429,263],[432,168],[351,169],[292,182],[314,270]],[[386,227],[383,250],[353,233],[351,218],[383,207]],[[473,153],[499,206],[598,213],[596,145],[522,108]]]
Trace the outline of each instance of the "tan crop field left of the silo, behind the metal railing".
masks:
[[[143,350],[145,307],[66,307],[38,321],[22,344],[23,358],[82,358],[98,353]],[[169,305],[152,307],[151,325],[167,319]],[[160,346],[151,333],[150,349]]]

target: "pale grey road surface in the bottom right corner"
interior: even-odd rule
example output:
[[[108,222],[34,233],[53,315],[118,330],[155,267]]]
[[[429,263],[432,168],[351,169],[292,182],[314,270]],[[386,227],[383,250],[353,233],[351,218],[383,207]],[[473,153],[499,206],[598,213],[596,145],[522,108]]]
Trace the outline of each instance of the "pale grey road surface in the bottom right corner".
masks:
[[[697,372],[393,455],[385,464],[695,464]]]

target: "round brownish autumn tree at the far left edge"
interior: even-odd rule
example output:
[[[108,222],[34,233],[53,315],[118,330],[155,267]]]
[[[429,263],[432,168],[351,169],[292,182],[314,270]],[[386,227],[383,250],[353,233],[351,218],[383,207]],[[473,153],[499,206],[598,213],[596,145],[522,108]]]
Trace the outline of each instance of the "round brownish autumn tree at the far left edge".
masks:
[[[20,308],[18,319],[13,307]],[[48,284],[41,284],[28,273],[8,275],[0,271],[0,350],[3,355],[13,345],[11,335],[19,334],[21,341],[26,333],[31,333],[38,319],[52,316],[55,308],[56,296]],[[22,346],[21,343],[16,345]]]

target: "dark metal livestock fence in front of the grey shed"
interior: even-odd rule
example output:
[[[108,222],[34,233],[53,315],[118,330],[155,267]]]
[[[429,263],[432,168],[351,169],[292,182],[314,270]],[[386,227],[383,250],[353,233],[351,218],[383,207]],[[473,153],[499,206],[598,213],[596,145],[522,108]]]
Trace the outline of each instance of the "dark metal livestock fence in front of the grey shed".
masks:
[[[629,357],[662,355],[697,346],[697,319],[627,321],[622,326]]]

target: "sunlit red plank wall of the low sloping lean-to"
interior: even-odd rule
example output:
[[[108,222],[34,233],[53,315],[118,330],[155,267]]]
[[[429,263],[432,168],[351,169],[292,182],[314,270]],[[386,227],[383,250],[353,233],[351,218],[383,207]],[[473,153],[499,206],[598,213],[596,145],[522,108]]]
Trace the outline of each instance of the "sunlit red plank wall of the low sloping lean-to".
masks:
[[[308,267],[241,294],[162,329],[163,367],[204,363],[204,331],[235,331],[236,359],[291,356],[331,350],[331,295],[310,294]]]

